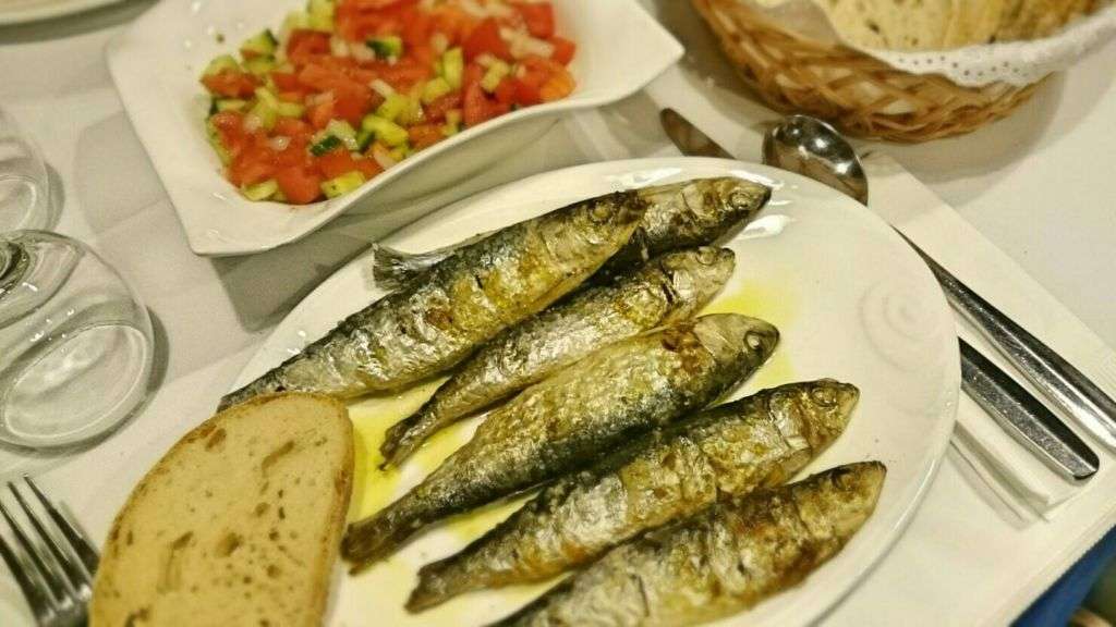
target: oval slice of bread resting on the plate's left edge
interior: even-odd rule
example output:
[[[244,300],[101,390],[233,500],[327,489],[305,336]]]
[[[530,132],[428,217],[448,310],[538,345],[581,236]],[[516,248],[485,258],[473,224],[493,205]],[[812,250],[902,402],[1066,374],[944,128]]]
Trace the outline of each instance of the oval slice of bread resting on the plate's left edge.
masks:
[[[352,479],[337,401],[282,394],[213,416],[117,514],[90,627],[319,625]]]

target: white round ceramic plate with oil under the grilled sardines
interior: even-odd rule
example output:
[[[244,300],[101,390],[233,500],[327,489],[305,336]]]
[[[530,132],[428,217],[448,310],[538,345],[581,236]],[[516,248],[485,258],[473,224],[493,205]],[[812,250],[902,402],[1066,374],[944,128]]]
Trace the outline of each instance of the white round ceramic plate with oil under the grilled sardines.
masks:
[[[386,243],[410,251],[430,250],[617,189],[723,175],[758,180],[776,189],[760,218],[727,242],[737,252],[737,272],[708,309],[758,316],[782,332],[775,356],[737,395],[821,377],[855,383],[862,397],[852,424],[807,472],[865,460],[879,460],[888,469],[875,514],[844,552],[802,586],[725,621],[805,625],[852,590],[898,538],[953,426],[960,387],[953,318],[926,267],[891,228],[863,205],[793,174],[722,160],[660,158],[535,176],[429,215]],[[369,257],[354,261],[299,305],[234,387],[382,296],[369,279]],[[374,512],[417,482],[463,443],[479,422],[463,423],[439,436],[401,473],[375,470],[378,460],[368,455],[377,450],[383,428],[417,407],[431,392],[427,386],[350,406],[359,436],[354,518]],[[462,517],[358,577],[339,576],[331,624],[481,625],[525,604],[542,587],[466,595],[417,617],[402,608],[419,566],[460,549],[508,515],[512,507]]]

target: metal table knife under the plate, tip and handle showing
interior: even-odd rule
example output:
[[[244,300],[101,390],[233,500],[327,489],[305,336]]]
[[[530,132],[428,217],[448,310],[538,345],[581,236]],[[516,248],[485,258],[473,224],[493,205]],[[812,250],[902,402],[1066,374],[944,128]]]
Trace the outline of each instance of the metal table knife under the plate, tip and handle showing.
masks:
[[[663,109],[660,120],[666,136],[682,154],[734,158],[674,109]],[[1001,428],[1065,478],[1083,481],[1096,474],[1100,460],[1088,444],[1000,367],[969,343],[961,338],[958,341],[961,346],[962,389]]]

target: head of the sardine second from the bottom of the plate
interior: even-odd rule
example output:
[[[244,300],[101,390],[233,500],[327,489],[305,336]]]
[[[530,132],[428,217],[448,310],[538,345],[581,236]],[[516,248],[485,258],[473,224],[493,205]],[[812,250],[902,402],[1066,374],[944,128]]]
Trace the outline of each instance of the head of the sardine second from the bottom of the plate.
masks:
[[[820,379],[781,386],[775,390],[772,403],[777,398],[787,403],[782,411],[798,414],[796,423],[802,425],[802,435],[817,453],[845,431],[860,390],[847,383]]]

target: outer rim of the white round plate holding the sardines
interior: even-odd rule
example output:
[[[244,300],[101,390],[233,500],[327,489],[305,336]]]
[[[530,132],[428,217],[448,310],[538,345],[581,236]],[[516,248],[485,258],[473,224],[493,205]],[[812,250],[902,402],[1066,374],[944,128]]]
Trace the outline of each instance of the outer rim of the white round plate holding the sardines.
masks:
[[[791,172],[777,170],[775,167],[767,166],[763,164],[758,164],[747,161],[715,158],[715,157],[687,157],[687,156],[643,157],[643,158],[631,158],[631,160],[605,161],[605,162],[596,162],[596,163],[575,165],[570,167],[547,171],[529,176],[527,179],[522,179],[520,181],[506,183],[503,185],[498,185],[492,189],[478,192],[477,194],[471,194],[465,199],[459,200],[456,202],[453,202],[449,205],[442,206],[431,212],[430,214],[407,224],[406,226],[392,233],[389,237],[385,238],[384,240],[377,243],[393,245],[398,240],[407,239],[410,237],[421,233],[423,230],[429,228],[430,223],[443,220],[444,219],[443,214],[448,214],[458,209],[459,206],[468,205],[469,203],[474,202],[477,197],[483,194],[497,193],[504,189],[519,185],[537,184],[539,180],[545,180],[548,177],[557,177],[560,175],[569,175],[569,174],[588,175],[596,170],[608,171],[622,167],[632,171],[647,171],[657,167],[673,166],[673,167],[679,167],[684,172],[687,165],[721,166],[725,171],[744,170],[745,172],[752,174],[758,174],[757,171],[768,171],[777,173],[779,179],[785,183],[793,183],[796,186],[804,186],[807,187],[808,190],[809,189],[821,190],[827,194],[840,195],[831,187],[828,187],[811,179],[807,179],[805,176]],[[860,204],[859,202],[852,199],[847,200],[849,201],[850,208],[855,206],[856,211],[860,212],[870,222],[876,223],[876,225],[881,228],[881,232],[884,234],[884,237],[891,239],[896,244],[896,249],[905,250],[908,252],[910,255],[912,255],[913,259],[917,259],[916,253],[903,242],[902,238],[899,238],[899,235],[895,232],[895,230],[892,229],[891,225],[883,218],[877,215],[875,212],[873,212],[864,204]],[[375,248],[373,247],[366,250],[365,252],[360,253],[356,258],[352,259],[349,262],[345,263],[340,268],[338,268],[334,273],[331,273],[321,283],[319,283],[314,290],[311,290],[301,301],[299,301],[299,303],[295,306],[295,308],[292,308],[287,316],[283,317],[283,319],[276,326],[276,328],[270,334],[268,334],[267,339],[264,339],[259,345],[259,347],[249,358],[244,367],[238,373],[233,382],[233,385],[230,387],[230,392],[247,384],[256,376],[259,376],[258,374],[256,374],[261,369],[258,363],[261,361],[261,357],[264,356],[264,353],[268,349],[267,347],[273,344],[278,344],[278,339],[280,336],[289,335],[288,327],[290,325],[296,325],[297,324],[296,320],[305,316],[306,311],[309,310],[311,306],[314,306],[314,301],[320,300],[320,296],[328,289],[330,283],[341,280],[343,274],[348,274],[352,272],[360,272],[362,267],[366,266],[373,259],[374,255],[375,255]],[[920,267],[918,272],[920,273],[924,272],[924,278],[936,284],[936,279],[934,279],[933,273],[930,271],[930,268],[927,268],[925,263],[923,263],[921,260],[918,261],[918,267]],[[950,308],[945,299],[945,295],[940,293],[939,299],[940,299],[939,308],[942,311],[945,311],[945,314],[950,316],[952,320],[952,314],[950,314]],[[341,312],[339,315],[345,316],[347,314],[348,312]],[[946,369],[947,380],[943,382],[944,384],[949,385],[950,397],[945,404],[944,412],[940,416],[936,431],[932,433],[933,437],[927,438],[926,451],[929,452],[929,455],[926,456],[926,460],[929,462],[929,466],[922,471],[921,478],[917,481],[917,485],[915,486],[915,490],[911,499],[906,503],[904,503],[903,512],[898,517],[898,519],[896,519],[895,523],[892,525],[891,531],[887,534],[883,546],[877,551],[872,552],[870,557],[867,557],[865,559],[863,568],[857,569],[855,578],[853,578],[853,580],[850,580],[849,583],[843,588],[840,594],[835,595],[833,598],[818,604],[817,607],[805,611],[802,624],[812,624],[817,621],[826,614],[833,611],[834,608],[843,604],[845,599],[847,599],[850,595],[853,595],[864,583],[864,581],[876,570],[876,568],[878,568],[878,566],[883,562],[883,560],[891,553],[891,551],[894,549],[895,544],[899,541],[899,539],[904,537],[912,521],[917,514],[918,510],[922,508],[926,494],[930,491],[930,486],[934,483],[934,480],[937,476],[943,460],[947,453],[950,440],[952,438],[953,426],[956,422],[959,401],[961,396],[960,349],[958,345],[953,343],[946,348],[946,351],[953,356],[953,358],[950,360],[950,364],[953,364],[953,366]],[[855,539],[856,537],[853,538],[853,540]],[[716,621],[715,625],[725,625],[729,623],[735,625],[737,623],[734,619],[741,620],[740,624],[744,625],[747,624],[748,616],[749,612],[743,611],[732,617],[721,619],[720,621]]]

